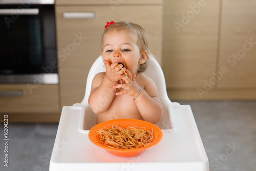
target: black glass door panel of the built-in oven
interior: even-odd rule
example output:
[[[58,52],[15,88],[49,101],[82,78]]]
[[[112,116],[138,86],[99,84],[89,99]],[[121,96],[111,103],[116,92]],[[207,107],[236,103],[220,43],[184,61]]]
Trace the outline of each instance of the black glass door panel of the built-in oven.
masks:
[[[54,6],[0,8],[0,74],[57,73]]]

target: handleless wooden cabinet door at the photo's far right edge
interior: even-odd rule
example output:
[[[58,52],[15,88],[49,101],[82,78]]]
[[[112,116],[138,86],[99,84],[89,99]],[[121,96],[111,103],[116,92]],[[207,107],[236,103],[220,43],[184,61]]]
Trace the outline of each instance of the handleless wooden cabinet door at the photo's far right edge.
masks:
[[[226,66],[228,71],[218,88],[256,88],[255,8],[255,1],[223,1],[219,70]]]

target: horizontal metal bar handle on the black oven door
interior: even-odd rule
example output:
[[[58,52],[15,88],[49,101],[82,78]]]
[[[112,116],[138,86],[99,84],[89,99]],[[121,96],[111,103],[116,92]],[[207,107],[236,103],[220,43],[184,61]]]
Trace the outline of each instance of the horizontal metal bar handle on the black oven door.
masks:
[[[19,15],[38,15],[39,9],[38,8],[29,8],[29,9],[0,9],[0,15],[12,15],[12,14],[19,14]]]

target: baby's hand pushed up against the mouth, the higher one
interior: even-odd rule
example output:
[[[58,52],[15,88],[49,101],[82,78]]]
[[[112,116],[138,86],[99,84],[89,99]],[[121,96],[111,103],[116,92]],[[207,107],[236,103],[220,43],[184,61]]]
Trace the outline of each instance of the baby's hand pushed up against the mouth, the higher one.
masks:
[[[113,82],[118,82],[121,80],[119,75],[123,74],[123,70],[121,69],[122,64],[120,64],[120,67],[118,66],[117,62],[114,62],[113,64],[110,64],[108,60],[103,60],[103,62],[105,63],[106,67],[106,77],[108,77]],[[125,68],[123,69],[125,70]]]

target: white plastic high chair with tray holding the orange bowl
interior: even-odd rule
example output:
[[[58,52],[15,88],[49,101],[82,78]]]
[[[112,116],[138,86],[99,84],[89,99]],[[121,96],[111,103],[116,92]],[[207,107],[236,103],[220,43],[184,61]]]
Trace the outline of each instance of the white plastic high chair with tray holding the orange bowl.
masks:
[[[96,124],[96,114],[88,105],[91,83],[105,71],[101,56],[88,74],[86,93],[81,103],[63,106],[50,160],[50,171],[58,170],[209,170],[208,158],[189,105],[169,100],[161,67],[151,59],[145,74],[158,87],[164,114],[156,124],[162,140],[139,156],[122,158],[109,154],[88,138]]]

